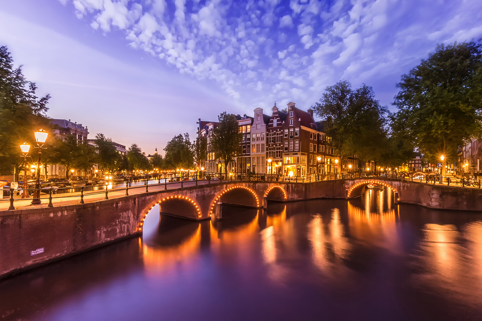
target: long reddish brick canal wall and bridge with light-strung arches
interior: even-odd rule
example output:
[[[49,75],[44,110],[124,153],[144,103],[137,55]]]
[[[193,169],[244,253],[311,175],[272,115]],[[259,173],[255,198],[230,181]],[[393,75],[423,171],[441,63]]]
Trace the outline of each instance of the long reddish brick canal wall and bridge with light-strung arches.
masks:
[[[376,181],[398,192],[402,203],[482,211],[482,191],[479,189],[403,180]],[[142,231],[143,218],[156,204],[164,213],[204,219],[209,218],[213,204],[219,201],[263,206],[264,196],[282,201],[285,193],[286,201],[303,201],[346,198],[347,191],[351,198],[360,195],[366,183],[364,179],[311,183],[223,182],[95,203],[0,211],[0,278],[136,235]]]

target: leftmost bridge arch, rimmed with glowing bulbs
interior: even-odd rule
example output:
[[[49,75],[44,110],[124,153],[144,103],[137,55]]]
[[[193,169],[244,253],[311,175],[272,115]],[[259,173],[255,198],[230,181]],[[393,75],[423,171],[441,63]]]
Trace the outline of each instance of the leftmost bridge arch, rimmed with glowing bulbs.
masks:
[[[182,217],[192,218],[192,219],[202,218],[201,207],[199,206],[199,204],[196,203],[195,200],[183,195],[166,196],[160,200],[152,202],[149,206],[147,206],[142,211],[141,215],[139,216],[140,220],[138,222],[138,227],[137,227],[139,232],[142,232],[144,220],[146,219],[146,216],[149,213],[149,211],[158,204],[161,208],[161,213],[171,214],[174,216],[181,216],[181,215],[177,215],[176,212],[186,211],[187,213],[186,212],[183,213],[184,215],[182,215]]]

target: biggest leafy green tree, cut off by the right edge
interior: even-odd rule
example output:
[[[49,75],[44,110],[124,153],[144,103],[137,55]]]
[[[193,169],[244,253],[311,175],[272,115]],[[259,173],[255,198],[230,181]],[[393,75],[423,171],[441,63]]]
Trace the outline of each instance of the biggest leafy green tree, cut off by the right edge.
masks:
[[[459,145],[480,135],[481,44],[439,45],[397,87],[393,132],[428,157],[456,155]]]

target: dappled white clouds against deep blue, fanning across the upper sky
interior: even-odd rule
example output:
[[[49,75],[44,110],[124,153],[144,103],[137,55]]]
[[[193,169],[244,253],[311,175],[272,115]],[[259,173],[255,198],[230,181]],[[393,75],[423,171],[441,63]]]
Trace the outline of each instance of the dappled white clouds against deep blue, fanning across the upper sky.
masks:
[[[373,86],[389,103],[400,76],[438,43],[482,37],[478,1],[60,1],[250,109],[310,105],[340,79]]]

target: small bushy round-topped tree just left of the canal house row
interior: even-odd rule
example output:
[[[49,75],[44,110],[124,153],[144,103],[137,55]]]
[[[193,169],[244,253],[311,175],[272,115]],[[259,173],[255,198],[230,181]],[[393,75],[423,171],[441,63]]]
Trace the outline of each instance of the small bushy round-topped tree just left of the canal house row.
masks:
[[[192,156],[191,141],[189,141],[189,134],[174,136],[171,141],[166,144],[164,151],[165,166],[167,169],[176,168],[192,168],[193,156]]]

